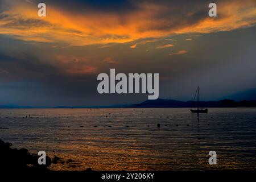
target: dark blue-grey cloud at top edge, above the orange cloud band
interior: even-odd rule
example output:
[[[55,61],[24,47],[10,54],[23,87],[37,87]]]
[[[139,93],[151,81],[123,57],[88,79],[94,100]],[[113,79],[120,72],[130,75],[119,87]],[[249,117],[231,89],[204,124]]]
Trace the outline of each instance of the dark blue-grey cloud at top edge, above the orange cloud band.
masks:
[[[40,1],[38,1],[40,2]],[[218,1],[217,1],[218,2]],[[186,20],[188,23],[195,23],[202,18],[208,16],[208,4],[209,1],[45,1],[49,6],[56,7],[58,9],[63,9],[65,11],[71,11],[72,13],[88,13],[86,11],[97,11],[99,13],[113,13],[113,14],[131,14],[135,11],[143,11],[144,7],[148,5],[156,5],[164,7],[165,10],[162,13],[156,14],[155,18],[159,19],[169,19],[175,20],[176,22],[182,21],[182,18],[189,18]],[[167,11],[166,11],[167,10]],[[152,9],[152,13],[154,13]],[[156,12],[158,13],[158,12]],[[126,19],[121,19],[121,21],[126,21]],[[181,22],[181,23],[186,23]],[[165,23],[165,22],[163,22]],[[174,24],[168,24],[167,27],[174,26]]]

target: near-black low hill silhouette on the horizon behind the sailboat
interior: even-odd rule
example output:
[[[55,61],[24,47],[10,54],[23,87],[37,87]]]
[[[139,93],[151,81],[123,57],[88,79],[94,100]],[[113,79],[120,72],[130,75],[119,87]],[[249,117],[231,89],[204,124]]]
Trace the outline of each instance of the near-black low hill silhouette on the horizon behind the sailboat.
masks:
[[[128,107],[196,107],[196,101],[176,101],[176,100],[147,100],[141,104],[133,104]],[[234,100],[221,100],[221,101],[200,101],[200,107],[256,107],[255,101],[234,101]]]

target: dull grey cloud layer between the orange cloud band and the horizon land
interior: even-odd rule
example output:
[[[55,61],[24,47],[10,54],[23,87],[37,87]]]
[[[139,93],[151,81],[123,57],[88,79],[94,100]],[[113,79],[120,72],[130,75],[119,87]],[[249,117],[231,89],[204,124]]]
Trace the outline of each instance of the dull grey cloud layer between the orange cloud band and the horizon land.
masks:
[[[114,65],[117,72],[158,72],[160,74],[160,97],[162,98],[192,99],[195,85],[199,84],[203,90],[203,100],[217,99],[227,93],[255,86],[255,72],[252,71],[255,68],[254,32],[255,28],[219,32],[201,35],[198,38],[192,37],[192,41],[189,42],[184,40],[184,35],[177,35],[172,37],[172,39],[177,39],[177,42],[171,49],[155,49],[154,52],[151,49],[147,54],[144,54],[143,47],[139,46],[131,52],[126,44],[117,44],[100,50],[97,47],[86,46],[46,51],[45,47],[51,47],[51,44],[24,44],[22,46],[20,40],[14,42],[9,38],[1,38],[7,47],[11,41],[13,41],[11,44],[20,47],[20,51],[13,50],[15,53],[11,54],[10,50],[6,53],[7,48],[0,46],[1,49],[5,49],[5,51],[0,51],[0,85],[2,85],[0,93],[2,97],[6,96],[1,97],[1,100],[6,101],[6,104],[9,103],[7,102],[9,98],[13,99],[13,103],[23,105],[108,105],[146,100],[146,97],[141,95],[98,94],[97,74],[65,73],[61,67],[64,63],[52,65],[47,61],[49,57],[46,53],[55,52],[63,55],[69,55],[69,53],[76,56],[79,54],[105,55],[113,57],[114,60],[123,59],[122,62]],[[160,42],[146,43],[141,46],[155,47],[158,43]],[[34,49],[31,46],[42,52],[32,51]],[[188,52],[184,55],[168,55],[181,48]],[[20,53],[26,49],[34,54]],[[118,54],[116,54],[117,50]],[[101,55],[98,54],[99,51]],[[97,59],[100,60],[98,57]],[[113,65],[99,63],[102,67],[100,72],[109,74],[109,69]],[[7,82],[8,85],[3,85],[2,82]]]

